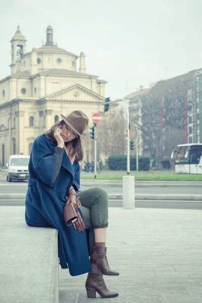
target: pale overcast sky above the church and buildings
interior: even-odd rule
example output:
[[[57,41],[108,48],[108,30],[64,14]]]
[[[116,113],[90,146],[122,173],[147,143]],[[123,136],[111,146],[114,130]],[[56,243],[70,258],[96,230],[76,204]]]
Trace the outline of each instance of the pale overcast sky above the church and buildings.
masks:
[[[45,42],[51,23],[58,46],[83,51],[86,72],[108,81],[106,97],[123,97],[140,85],[202,67],[201,10],[201,0],[4,1],[0,79],[10,74],[17,24],[28,52]]]

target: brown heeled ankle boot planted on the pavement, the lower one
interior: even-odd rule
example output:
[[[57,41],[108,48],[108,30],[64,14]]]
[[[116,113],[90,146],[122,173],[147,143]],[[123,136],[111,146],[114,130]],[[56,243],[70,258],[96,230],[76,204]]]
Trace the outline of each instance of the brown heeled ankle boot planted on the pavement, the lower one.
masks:
[[[110,291],[103,279],[103,274],[100,272],[96,264],[91,263],[91,272],[88,273],[85,282],[85,288],[88,298],[96,298],[96,292],[102,298],[114,298],[118,296],[118,292]]]

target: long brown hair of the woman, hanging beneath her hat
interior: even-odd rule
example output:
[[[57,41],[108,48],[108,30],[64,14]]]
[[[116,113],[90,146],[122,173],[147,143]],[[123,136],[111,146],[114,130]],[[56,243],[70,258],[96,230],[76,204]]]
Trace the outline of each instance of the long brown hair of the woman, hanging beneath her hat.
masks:
[[[57,141],[54,137],[54,132],[55,132],[55,128],[56,127],[61,127],[63,125],[65,125],[65,121],[61,120],[59,122],[56,122],[50,129],[48,129],[44,135],[46,136],[46,138],[48,138],[49,140],[51,140],[55,145],[57,145]],[[72,143],[72,147],[73,147],[73,153],[70,156],[75,156],[75,162],[79,162],[83,160],[83,148],[81,145],[81,138],[78,136],[76,139],[73,139],[70,141]],[[68,144],[70,142],[65,142],[65,146],[67,147]]]

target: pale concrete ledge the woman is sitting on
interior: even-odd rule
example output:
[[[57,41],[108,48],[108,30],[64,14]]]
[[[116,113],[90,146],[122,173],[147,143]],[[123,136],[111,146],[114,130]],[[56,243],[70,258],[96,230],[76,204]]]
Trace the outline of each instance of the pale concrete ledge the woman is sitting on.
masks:
[[[27,226],[21,207],[0,219],[0,302],[58,303],[58,231]]]

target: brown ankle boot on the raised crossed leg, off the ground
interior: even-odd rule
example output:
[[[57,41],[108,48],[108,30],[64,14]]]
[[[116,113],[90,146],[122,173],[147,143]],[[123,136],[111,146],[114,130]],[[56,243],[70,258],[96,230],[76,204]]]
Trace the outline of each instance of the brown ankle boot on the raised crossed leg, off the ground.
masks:
[[[119,273],[115,270],[112,270],[109,267],[107,260],[107,247],[95,247],[93,246],[93,252],[90,255],[90,263],[95,263],[100,272],[106,276],[119,276]]]

